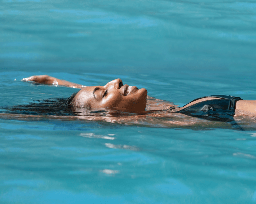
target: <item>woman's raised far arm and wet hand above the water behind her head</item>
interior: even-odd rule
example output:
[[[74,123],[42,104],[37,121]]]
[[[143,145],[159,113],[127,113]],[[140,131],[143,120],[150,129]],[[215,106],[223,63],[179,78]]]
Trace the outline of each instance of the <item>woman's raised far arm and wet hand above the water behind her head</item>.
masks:
[[[34,81],[36,83],[40,84],[48,84],[48,85],[59,85],[59,86],[67,86],[71,88],[84,88],[86,86],[83,86],[81,84],[72,83],[69,81],[65,81],[62,79],[57,79],[52,76],[48,75],[37,75],[37,76],[30,76],[27,78],[22,79],[23,81]]]

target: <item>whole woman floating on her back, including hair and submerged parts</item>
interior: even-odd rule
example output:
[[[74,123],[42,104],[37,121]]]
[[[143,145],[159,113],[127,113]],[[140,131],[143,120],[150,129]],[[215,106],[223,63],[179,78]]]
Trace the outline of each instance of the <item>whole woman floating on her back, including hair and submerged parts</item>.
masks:
[[[147,96],[147,90],[123,85],[121,79],[105,86],[83,86],[47,75],[23,81],[79,88],[68,99],[43,100],[9,108],[0,117],[17,120],[92,120],[157,128],[256,129],[256,101],[239,97],[210,96],[184,107]],[[146,110],[146,111],[145,111]],[[247,116],[246,116],[247,115]],[[249,115],[249,117],[248,117]]]

